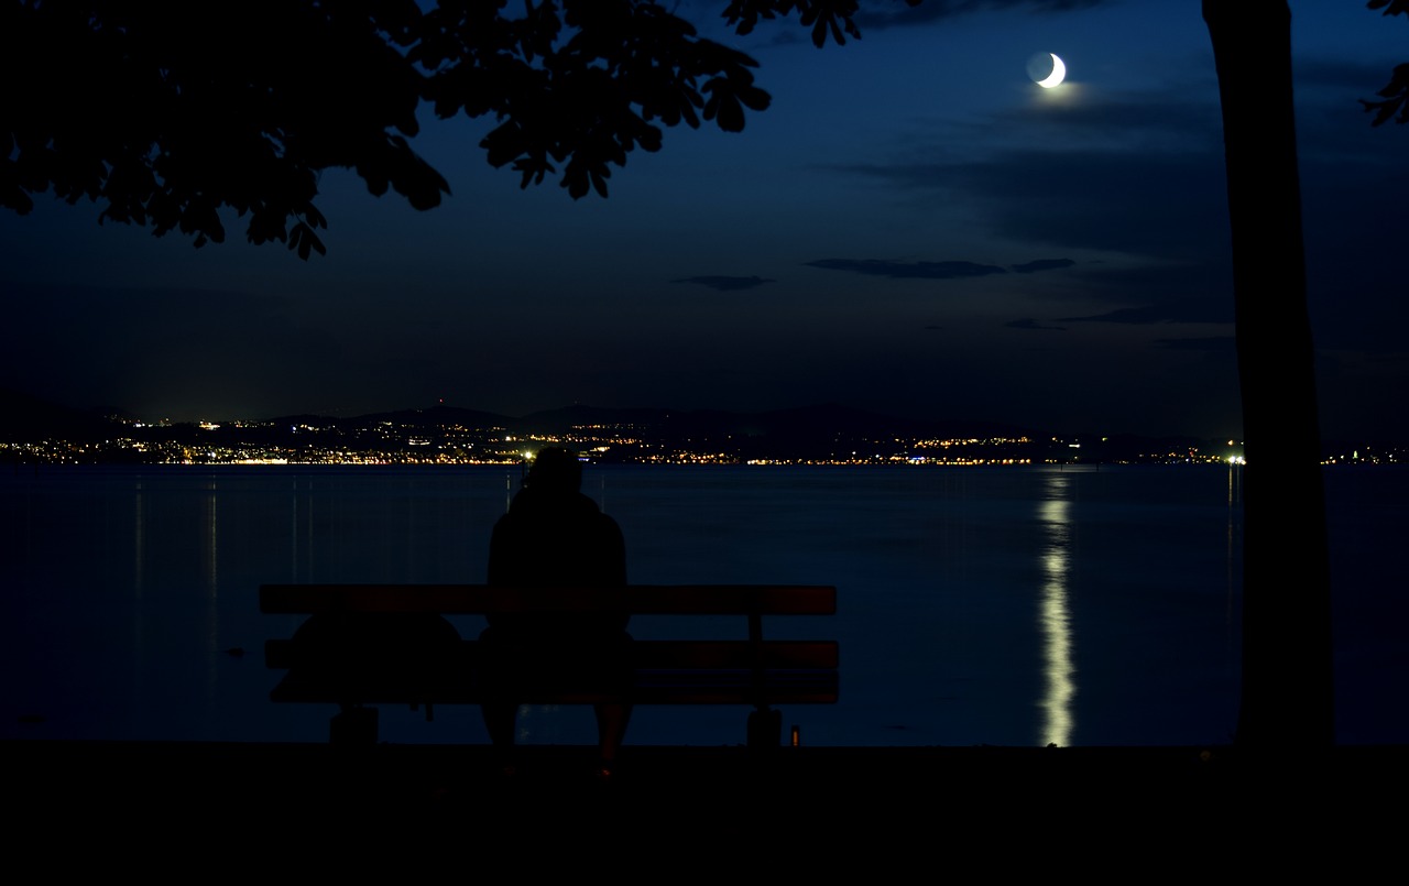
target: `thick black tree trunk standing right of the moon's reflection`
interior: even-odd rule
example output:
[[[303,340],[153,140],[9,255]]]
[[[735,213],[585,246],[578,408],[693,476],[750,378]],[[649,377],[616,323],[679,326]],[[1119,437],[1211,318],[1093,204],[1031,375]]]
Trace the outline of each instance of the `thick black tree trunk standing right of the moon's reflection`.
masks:
[[[1223,104],[1246,441],[1236,744],[1334,744],[1330,568],[1285,0],[1203,0]]]

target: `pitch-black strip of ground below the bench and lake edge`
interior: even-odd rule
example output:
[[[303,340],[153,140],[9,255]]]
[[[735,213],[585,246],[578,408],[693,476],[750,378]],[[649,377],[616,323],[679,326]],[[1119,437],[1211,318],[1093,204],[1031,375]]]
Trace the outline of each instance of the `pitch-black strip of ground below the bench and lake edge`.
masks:
[[[1007,873],[1377,879],[1409,844],[1409,748],[486,747],[0,742],[14,869],[535,879]],[[435,875],[438,876],[438,875]],[[1399,875],[1392,875],[1398,878]],[[358,878],[361,879],[361,878]],[[496,878],[497,879],[497,878]],[[517,879],[517,878],[516,878]],[[596,880],[596,876],[588,879]],[[752,878],[750,878],[752,879]]]

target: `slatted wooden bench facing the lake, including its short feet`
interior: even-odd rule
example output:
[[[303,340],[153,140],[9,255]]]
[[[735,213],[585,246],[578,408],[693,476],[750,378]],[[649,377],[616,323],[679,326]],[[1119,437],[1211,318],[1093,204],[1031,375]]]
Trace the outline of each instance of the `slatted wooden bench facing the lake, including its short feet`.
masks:
[[[764,617],[830,616],[837,590],[802,585],[628,585],[617,589],[489,585],[263,585],[266,614],[309,620],[289,639],[265,642],[265,662],[287,673],[275,701],[333,703],[334,742],[376,741],[376,709],[478,704],[495,697],[482,666],[485,644],[465,639],[445,616],[628,614],[730,616],[747,620],[741,639],[637,639],[627,649],[628,687],[550,680],[526,704],[745,704],[750,747],[776,747],[774,704],[828,704],[838,692],[836,641],[765,639]],[[744,625],[740,624],[743,628]],[[317,628],[317,630],[314,630]]]

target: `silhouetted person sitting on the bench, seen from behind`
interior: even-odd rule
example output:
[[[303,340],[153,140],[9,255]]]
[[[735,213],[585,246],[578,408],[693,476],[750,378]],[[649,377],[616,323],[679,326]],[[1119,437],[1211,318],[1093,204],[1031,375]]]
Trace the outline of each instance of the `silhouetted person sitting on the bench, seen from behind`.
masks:
[[[489,583],[520,587],[619,587],[626,585],[626,542],[616,521],[582,494],[582,465],[566,449],[538,454],[489,544]],[[516,696],[542,682],[566,687],[628,687],[628,616],[500,614],[486,641],[499,700],[480,706],[495,747],[514,742]],[[599,775],[609,776],[631,707],[597,704]],[[507,765],[507,762],[506,762]]]

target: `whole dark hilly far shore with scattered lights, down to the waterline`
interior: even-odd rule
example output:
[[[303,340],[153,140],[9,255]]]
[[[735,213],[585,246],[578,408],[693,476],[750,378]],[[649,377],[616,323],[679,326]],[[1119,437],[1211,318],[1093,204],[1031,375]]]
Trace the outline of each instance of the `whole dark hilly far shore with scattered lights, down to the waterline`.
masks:
[[[44,441],[85,445],[35,448]],[[99,445],[87,445],[92,442]],[[923,421],[836,403],[758,413],[573,404],[520,417],[438,404],[351,418],[293,414],[263,421],[148,425],[110,421],[0,389],[0,444],[25,447],[15,451],[21,461],[499,463],[547,442],[621,463],[1168,463],[1241,455],[1241,447],[1229,447],[1226,439],[1055,437],[1009,424]],[[1398,451],[1374,458],[1392,463]]]

